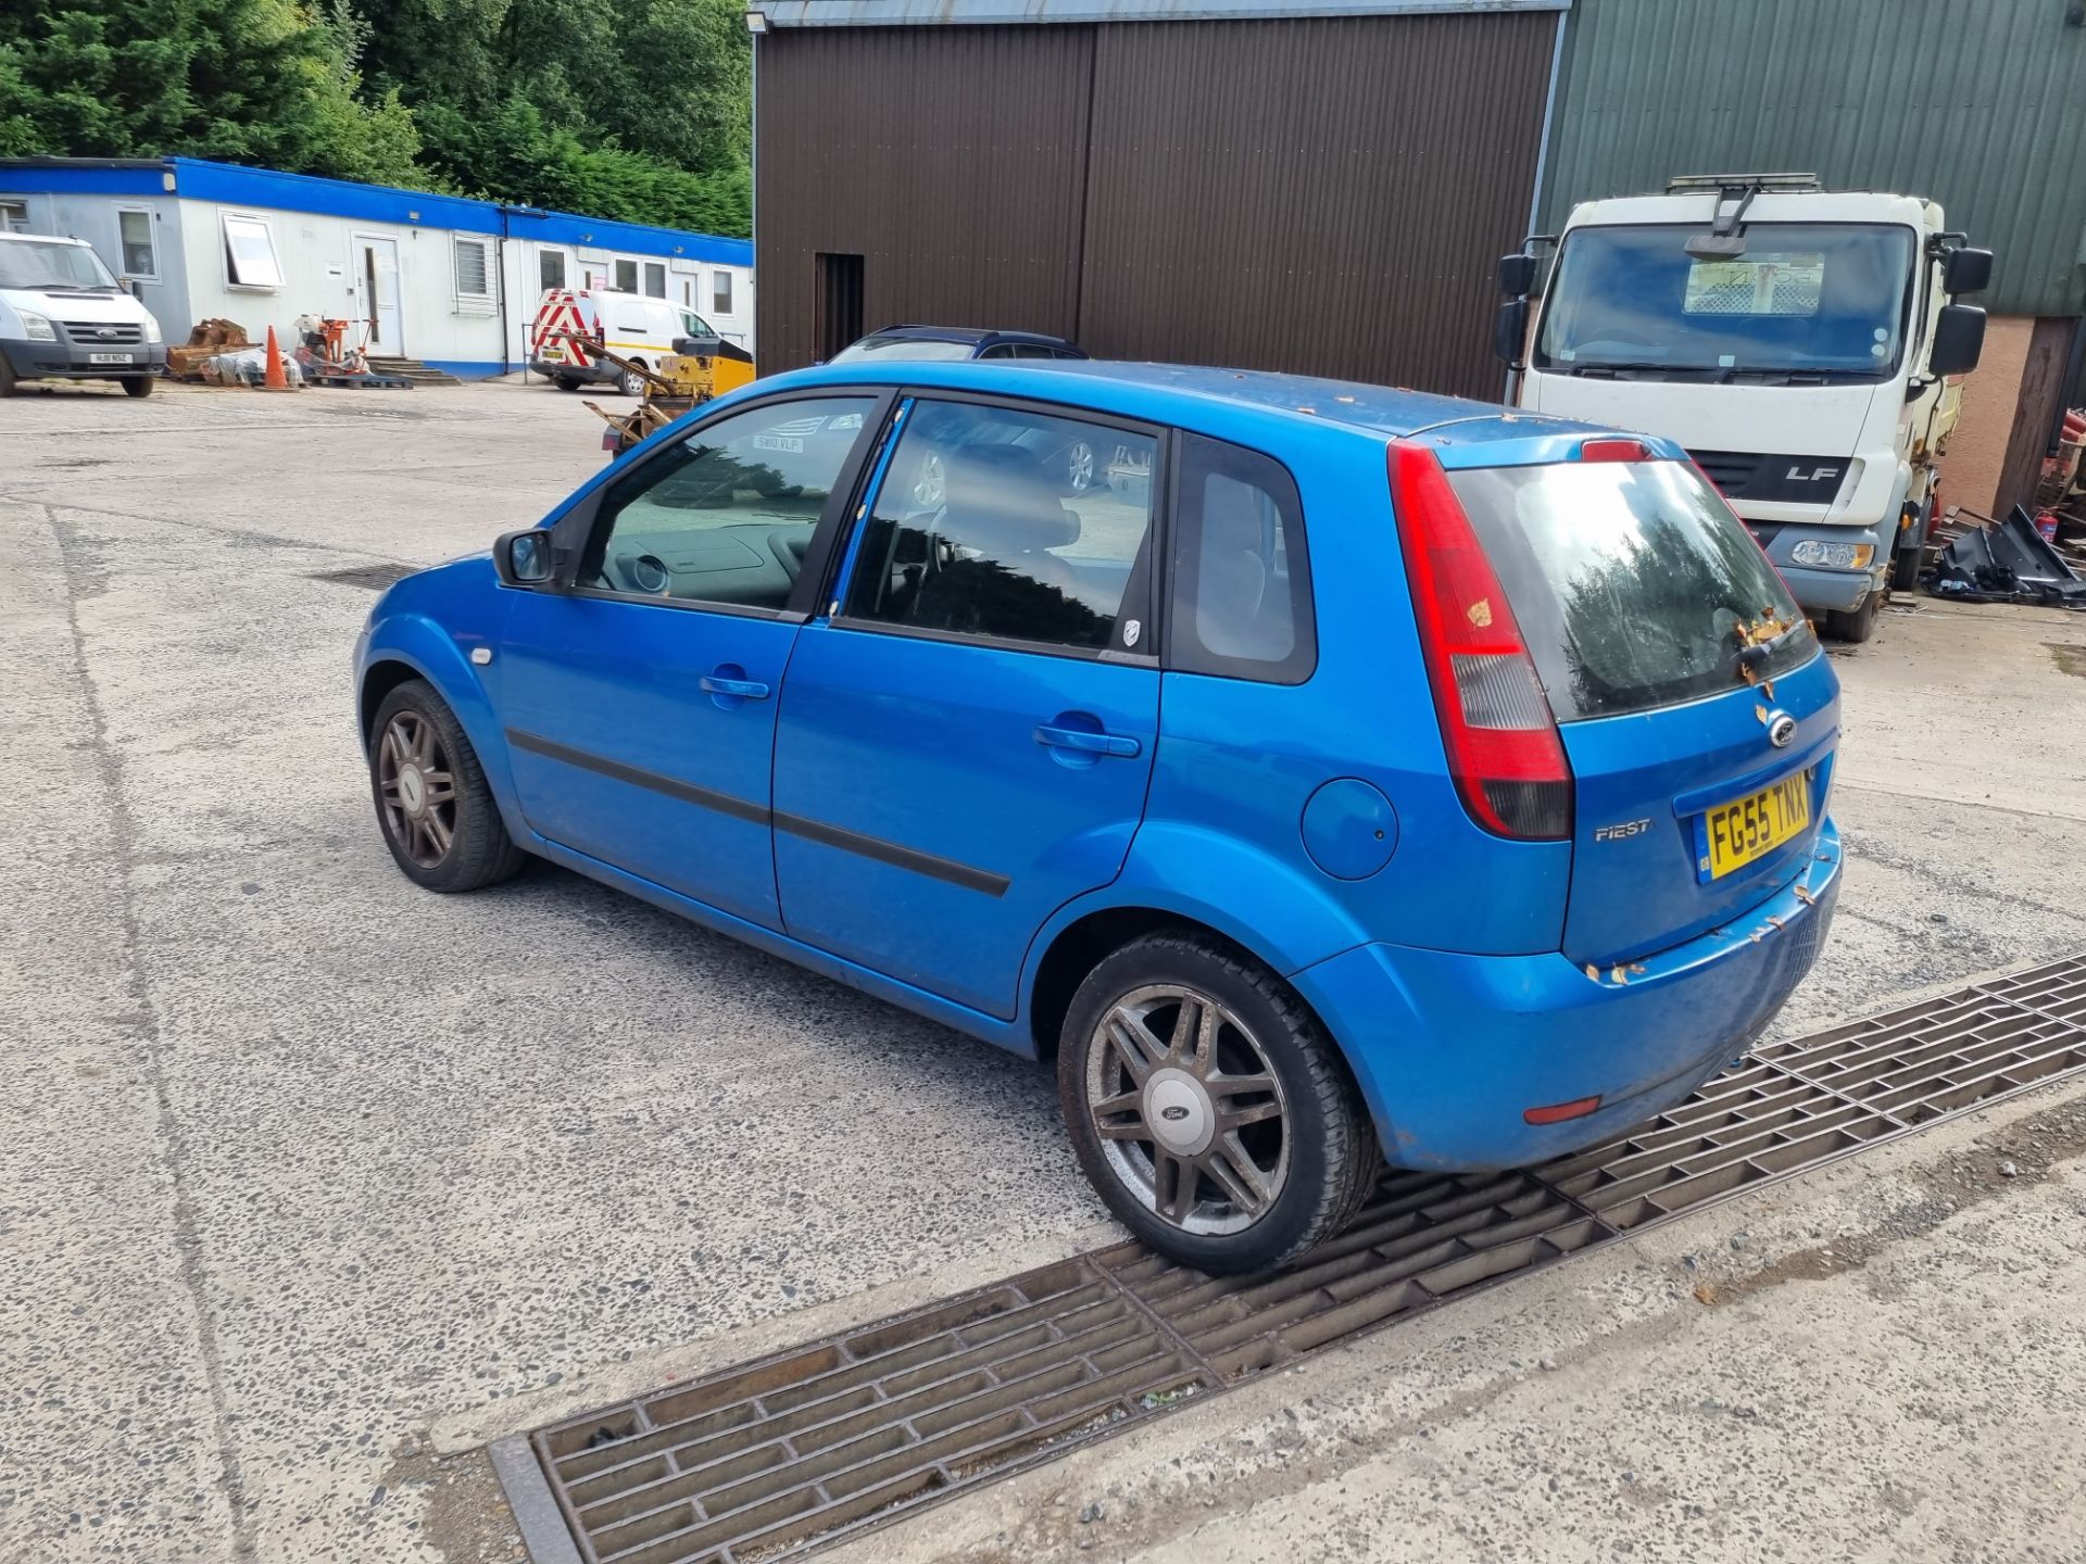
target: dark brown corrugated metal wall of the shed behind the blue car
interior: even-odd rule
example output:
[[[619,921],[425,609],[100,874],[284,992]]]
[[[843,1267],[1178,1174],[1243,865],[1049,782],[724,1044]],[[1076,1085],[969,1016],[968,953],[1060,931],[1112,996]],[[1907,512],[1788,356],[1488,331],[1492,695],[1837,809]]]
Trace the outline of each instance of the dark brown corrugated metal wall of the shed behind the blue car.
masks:
[[[759,44],[763,371],[816,357],[814,254],[872,325],[1496,398],[1554,13],[832,27]]]

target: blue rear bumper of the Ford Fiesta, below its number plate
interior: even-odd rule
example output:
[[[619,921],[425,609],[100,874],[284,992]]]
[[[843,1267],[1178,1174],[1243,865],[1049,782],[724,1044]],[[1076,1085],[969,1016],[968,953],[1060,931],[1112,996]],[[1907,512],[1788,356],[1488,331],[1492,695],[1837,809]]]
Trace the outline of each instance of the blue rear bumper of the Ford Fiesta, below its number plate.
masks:
[[[1621,980],[1558,953],[1362,945],[1291,982],[1341,1041],[1391,1166],[1525,1168],[1663,1114],[1742,1055],[1817,961],[1838,893],[1825,820],[1790,886]],[[1521,1118],[1596,1095],[1585,1118]]]

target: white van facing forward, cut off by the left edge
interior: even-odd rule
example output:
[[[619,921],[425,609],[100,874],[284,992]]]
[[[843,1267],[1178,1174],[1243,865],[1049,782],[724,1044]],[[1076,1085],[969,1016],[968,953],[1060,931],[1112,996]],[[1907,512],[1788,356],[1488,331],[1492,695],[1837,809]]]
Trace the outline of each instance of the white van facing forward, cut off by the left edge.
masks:
[[[113,380],[150,396],[167,363],[152,311],[86,240],[0,234],[0,396],[23,380]]]

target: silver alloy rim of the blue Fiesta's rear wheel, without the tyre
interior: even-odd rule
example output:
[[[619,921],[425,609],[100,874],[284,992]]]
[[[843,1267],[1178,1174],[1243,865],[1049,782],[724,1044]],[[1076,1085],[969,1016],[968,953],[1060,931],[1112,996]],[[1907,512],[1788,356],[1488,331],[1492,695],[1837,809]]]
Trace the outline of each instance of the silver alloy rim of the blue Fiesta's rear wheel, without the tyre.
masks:
[[[1275,1066],[1195,988],[1149,984],[1108,1007],[1087,1049],[1087,1114],[1122,1187],[1183,1232],[1239,1232],[1289,1182]]]

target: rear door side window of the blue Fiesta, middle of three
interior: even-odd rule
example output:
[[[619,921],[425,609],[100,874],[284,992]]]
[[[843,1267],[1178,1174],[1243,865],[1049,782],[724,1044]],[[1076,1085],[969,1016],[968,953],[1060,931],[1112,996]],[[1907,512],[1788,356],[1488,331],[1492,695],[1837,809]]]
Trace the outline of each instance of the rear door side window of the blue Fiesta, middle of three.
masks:
[[[1149,653],[1147,434],[916,402],[876,492],[847,615],[1074,651]]]

